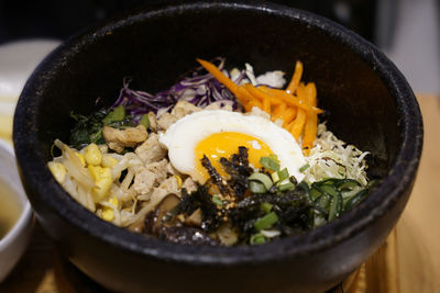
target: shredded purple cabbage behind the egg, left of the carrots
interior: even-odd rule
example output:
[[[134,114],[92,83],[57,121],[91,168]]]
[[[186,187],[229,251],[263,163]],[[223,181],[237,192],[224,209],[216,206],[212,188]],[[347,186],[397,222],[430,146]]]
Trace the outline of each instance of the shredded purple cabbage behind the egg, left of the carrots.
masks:
[[[217,57],[215,60],[219,61],[218,67],[223,70],[224,58]],[[239,83],[244,77],[245,72],[243,70],[234,82]],[[169,89],[155,95],[145,91],[130,89],[130,78],[123,79],[123,88],[111,108],[123,105],[125,112],[133,117],[135,123],[141,120],[143,114],[151,111],[157,115],[170,112],[178,101],[187,101],[200,108],[212,103],[231,104],[233,110],[241,106],[235,97],[211,74],[206,74],[201,66]]]

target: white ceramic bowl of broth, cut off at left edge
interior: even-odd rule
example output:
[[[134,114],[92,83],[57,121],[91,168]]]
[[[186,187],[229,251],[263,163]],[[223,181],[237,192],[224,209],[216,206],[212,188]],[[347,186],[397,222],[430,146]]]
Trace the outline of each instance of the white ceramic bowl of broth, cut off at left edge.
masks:
[[[10,184],[21,206],[21,215],[9,233],[0,239],[0,282],[9,274],[23,255],[32,232],[32,209],[24,193],[12,147],[0,139],[0,178]]]

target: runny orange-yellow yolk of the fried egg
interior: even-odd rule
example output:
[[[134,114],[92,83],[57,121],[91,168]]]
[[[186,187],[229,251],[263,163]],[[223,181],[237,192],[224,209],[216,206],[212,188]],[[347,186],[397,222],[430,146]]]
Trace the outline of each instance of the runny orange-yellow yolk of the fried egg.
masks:
[[[220,158],[224,157],[229,159],[231,155],[239,153],[240,146],[248,148],[249,165],[256,169],[262,167],[260,164],[261,157],[267,157],[273,154],[271,148],[263,143],[263,140],[251,135],[234,132],[212,134],[196,146],[196,180],[205,183],[209,179],[208,171],[200,162],[204,155],[208,157],[212,167],[215,167],[222,177],[227,177],[228,173],[224,171]]]

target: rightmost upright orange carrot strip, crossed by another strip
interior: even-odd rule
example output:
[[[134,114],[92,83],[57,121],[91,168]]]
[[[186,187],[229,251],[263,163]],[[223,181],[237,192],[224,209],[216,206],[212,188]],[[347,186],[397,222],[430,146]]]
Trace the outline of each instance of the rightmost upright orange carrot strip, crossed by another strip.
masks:
[[[317,105],[317,90],[314,82],[310,82],[306,86],[306,99],[309,105]],[[308,156],[317,135],[318,115],[311,112],[308,112],[306,115],[307,117],[304,128],[302,151]]]

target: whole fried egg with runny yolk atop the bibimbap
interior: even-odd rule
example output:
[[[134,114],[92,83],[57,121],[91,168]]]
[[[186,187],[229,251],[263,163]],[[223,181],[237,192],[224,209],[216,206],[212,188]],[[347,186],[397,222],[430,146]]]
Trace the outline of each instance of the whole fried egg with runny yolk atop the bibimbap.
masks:
[[[179,172],[205,183],[209,179],[200,159],[206,155],[211,165],[226,174],[220,158],[237,154],[240,146],[249,149],[249,162],[260,169],[261,157],[276,155],[280,168],[287,168],[299,181],[299,168],[306,164],[295,138],[270,120],[224,110],[202,110],[178,120],[161,134],[160,143],[168,149],[169,161]]]

